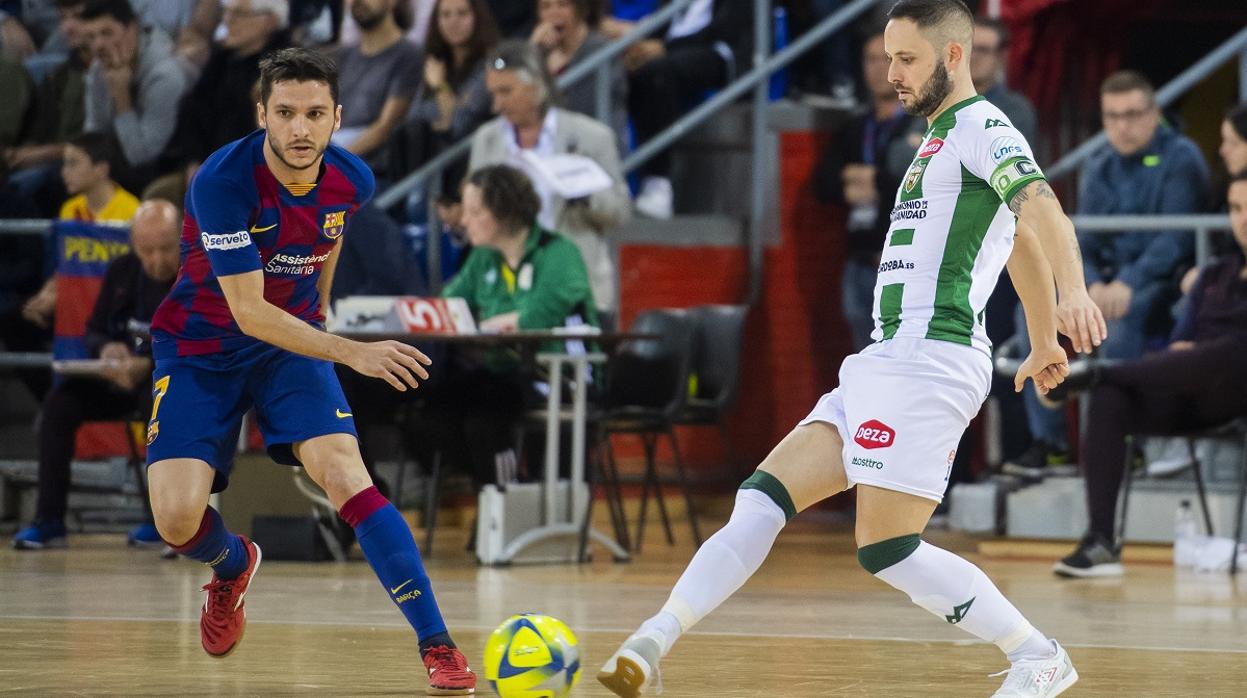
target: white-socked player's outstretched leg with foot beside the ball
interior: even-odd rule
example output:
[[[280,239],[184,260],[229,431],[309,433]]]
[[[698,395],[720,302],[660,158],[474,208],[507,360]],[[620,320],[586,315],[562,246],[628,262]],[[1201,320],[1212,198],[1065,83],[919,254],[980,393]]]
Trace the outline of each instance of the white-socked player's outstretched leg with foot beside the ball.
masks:
[[[658,659],[748,581],[784,524],[844,490],[843,446],[839,433],[827,423],[798,426],[788,434],[741,485],[732,517],[697,550],[662,610],[620,647],[597,679],[628,698],[656,682]],[[661,686],[656,689],[661,692]]]

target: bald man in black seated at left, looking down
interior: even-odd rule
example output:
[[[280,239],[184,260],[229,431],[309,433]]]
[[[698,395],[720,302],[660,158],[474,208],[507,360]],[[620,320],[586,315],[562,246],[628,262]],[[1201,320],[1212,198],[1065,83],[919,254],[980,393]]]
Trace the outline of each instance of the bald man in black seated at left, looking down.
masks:
[[[182,219],[167,201],[145,202],[135,213],[131,252],[110,265],[86,343],[106,365],[99,376],[72,376],[44,400],[39,421],[39,500],[35,521],[12,538],[19,550],[65,545],[65,510],[75,435],[84,421],[123,420],[146,415],[151,405],[151,348],[131,334],[130,323],[151,322],[173,285]],[[142,419],[142,418],[140,418]],[[151,525],[131,535],[132,543],[160,543]]]

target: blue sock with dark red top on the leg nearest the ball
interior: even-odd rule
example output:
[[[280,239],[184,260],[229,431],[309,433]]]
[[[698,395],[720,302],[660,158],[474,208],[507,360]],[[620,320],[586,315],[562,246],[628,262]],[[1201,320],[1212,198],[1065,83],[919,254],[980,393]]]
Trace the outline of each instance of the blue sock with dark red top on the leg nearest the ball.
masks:
[[[355,530],[359,548],[390,601],[412,624],[420,648],[435,644],[454,647],[438,601],[433,597],[433,585],[424,571],[415,538],[394,505],[377,487],[368,487],[342,505],[338,516]]]

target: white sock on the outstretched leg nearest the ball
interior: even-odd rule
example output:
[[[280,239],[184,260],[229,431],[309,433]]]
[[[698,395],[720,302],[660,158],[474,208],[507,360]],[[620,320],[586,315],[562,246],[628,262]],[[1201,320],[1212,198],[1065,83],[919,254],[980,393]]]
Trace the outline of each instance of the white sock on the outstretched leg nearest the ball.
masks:
[[[637,632],[661,636],[666,656],[682,633],[758,571],[787,522],[783,509],[769,496],[759,490],[738,490],[732,517],[702,543],[662,611]]]

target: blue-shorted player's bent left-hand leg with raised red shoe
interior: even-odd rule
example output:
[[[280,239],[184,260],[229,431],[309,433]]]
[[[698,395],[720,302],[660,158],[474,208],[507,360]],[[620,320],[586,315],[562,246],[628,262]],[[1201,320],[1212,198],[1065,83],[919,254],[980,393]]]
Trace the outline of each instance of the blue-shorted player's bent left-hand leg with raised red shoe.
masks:
[[[224,657],[242,641],[247,626],[243,597],[259,568],[259,547],[231,533],[208,506],[214,471],[197,459],[166,459],[147,469],[156,530],[175,551],[212,567],[208,597],[200,616],[205,652]]]

